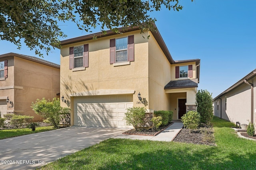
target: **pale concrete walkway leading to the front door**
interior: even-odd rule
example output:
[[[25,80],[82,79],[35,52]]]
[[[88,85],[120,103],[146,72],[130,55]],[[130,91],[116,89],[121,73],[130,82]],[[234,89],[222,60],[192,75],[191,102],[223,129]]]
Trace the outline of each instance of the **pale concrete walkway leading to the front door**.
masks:
[[[150,140],[150,141],[172,141],[176,135],[180,132],[183,127],[183,123],[181,121],[173,121],[174,123],[162,131],[160,134],[156,136],[140,136],[140,135],[118,135],[115,138],[122,139],[139,139],[139,140]]]

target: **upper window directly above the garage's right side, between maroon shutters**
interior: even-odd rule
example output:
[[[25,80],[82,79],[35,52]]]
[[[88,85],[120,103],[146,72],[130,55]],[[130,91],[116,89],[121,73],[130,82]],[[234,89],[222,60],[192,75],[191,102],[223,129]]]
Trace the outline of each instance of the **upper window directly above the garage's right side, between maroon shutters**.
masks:
[[[116,63],[128,61],[127,45],[128,37],[116,39]]]

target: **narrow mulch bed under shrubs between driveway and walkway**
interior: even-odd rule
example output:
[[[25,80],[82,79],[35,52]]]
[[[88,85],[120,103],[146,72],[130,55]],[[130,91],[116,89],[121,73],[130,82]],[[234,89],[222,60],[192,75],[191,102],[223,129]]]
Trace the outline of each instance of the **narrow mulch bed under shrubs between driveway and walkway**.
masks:
[[[138,131],[136,131],[135,129],[131,129],[131,130],[126,131],[122,134],[124,134],[124,135],[141,135],[141,136],[156,136],[172,124],[173,124],[173,122],[171,122],[167,125],[164,125],[164,126],[160,126],[158,128],[158,130],[154,130],[154,129],[147,130],[147,129],[142,128],[142,129],[138,129]]]

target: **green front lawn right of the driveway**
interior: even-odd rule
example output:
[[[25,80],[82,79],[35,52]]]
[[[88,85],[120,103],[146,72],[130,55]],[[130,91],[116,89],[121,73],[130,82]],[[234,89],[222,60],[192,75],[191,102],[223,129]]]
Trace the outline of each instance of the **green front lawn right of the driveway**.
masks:
[[[239,138],[233,123],[214,117],[216,147],[178,142],[108,139],[41,170],[256,169],[256,141]],[[75,144],[74,144],[75,145]]]

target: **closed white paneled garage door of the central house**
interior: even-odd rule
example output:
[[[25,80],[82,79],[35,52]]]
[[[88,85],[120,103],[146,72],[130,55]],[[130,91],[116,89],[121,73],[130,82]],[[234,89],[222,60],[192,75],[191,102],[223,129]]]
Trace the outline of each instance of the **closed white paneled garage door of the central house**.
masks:
[[[76,97],[74,125],[132,128],[124,120],[126,109],[133,106],[132,100],[132,95]]]

